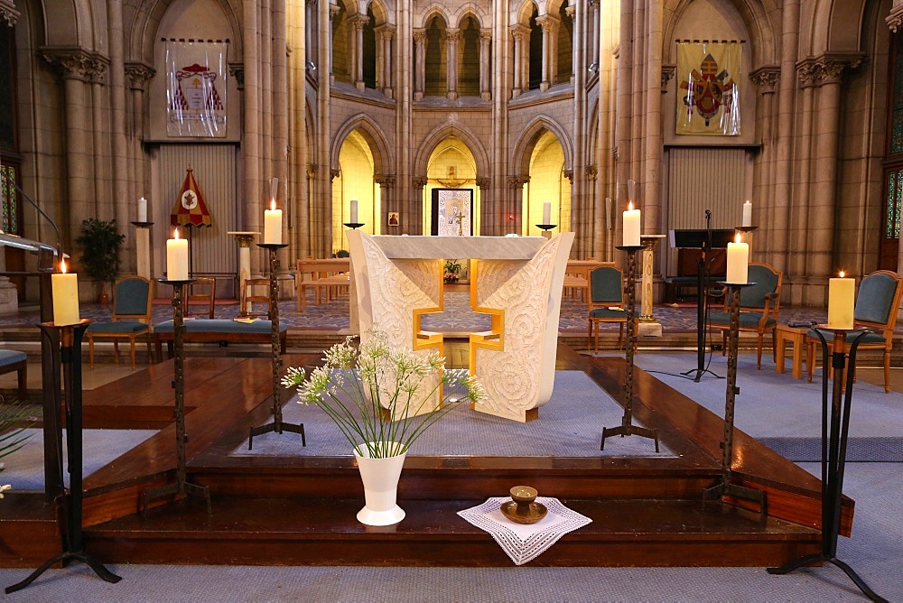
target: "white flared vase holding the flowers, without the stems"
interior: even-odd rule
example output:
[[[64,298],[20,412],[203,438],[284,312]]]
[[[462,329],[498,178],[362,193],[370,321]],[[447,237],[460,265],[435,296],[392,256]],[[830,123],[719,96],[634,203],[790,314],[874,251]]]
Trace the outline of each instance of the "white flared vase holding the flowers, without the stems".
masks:
[[[401,448],[395,442],[388,445]],[[405,511],[396,504],[396,499],[406,454],[405,450],[386,459],[371,459],[367,446],[360,445],[354,450],[360,479],[364,482],[364,508],[358,511],[361,524],[391,525],[405,518]]]

